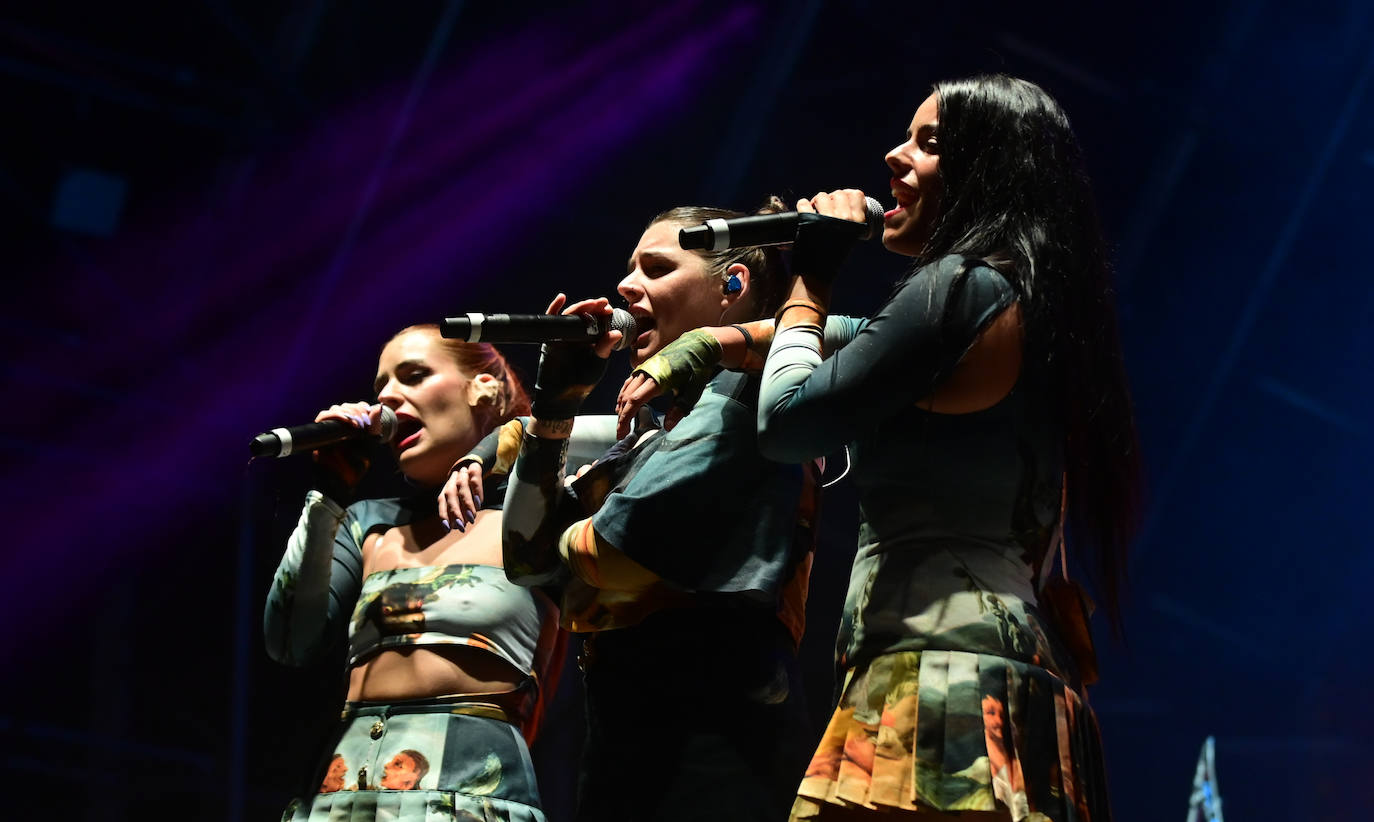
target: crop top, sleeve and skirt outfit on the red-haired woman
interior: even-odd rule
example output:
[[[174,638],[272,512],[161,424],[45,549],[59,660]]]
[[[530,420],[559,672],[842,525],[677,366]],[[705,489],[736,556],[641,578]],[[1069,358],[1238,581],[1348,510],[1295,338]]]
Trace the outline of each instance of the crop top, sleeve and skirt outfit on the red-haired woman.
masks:
[[[368,533],[429,513],[429,500],[364,500],[341,510],[312,491],[268,595],[269,653],[304,664],[352,623],[350,665],[382,647],[462,643],[533,676],[541,667],[536,656],[548,656],[536,646],[551,606],[507,581],[500,568],[404,568],[361,577]],[[282,818],[541,822],[519,719],[460,698],[346,704],[319,789],[294,800]]]

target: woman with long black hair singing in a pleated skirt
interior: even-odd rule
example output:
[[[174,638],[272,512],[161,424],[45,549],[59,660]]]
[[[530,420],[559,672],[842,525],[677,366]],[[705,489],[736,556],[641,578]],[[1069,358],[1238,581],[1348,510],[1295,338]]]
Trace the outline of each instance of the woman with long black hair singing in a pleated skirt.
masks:
[[[798,460],[848,445],[861,506],[844,689],[793,818],[1107,819],[1087,660],[1066,647],[1084,617],[1044,595],[1066,511],[1116,617],[1139,482],[1077,142],[1039,87],[976,77],[936,85],[886,162],[883,245],[911,274],[871,319],[827,323],[857,234],[841,220],[863,219],[863,195],[800,202],[823,219],[802,219],[763,377],[760,447]],[[746,330],[708,329],[666,360],[738,367],[768,342]],[[683,368],[646,371],[622,414]]]

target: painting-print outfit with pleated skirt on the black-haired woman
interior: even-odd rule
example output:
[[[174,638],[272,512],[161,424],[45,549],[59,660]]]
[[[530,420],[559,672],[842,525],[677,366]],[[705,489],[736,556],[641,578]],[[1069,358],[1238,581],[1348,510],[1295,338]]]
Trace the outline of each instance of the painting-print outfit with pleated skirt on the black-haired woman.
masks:
[[[1015,301],[977,261],[905,280],[844,348],[779,331],[764,370],[760,444],[793,462],[848,444],[859,550],[840,628],[842,696],[793,818],[822,804],[1107,819],[1096,723],[1037,606],[1058,521],[1062,436],[1025,363],[991,408],[916,407]]]

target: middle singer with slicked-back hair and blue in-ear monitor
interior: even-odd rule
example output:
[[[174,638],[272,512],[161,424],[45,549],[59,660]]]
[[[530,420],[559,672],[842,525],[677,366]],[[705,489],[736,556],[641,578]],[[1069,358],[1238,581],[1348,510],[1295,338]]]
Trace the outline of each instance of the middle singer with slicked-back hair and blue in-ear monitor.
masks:
[[[687,225],[739,216],[673,209],[644,231],[618,286],[636,364],[683,331],[776,308],[776,252],[677,245]],[[561,586],[565,627],[591,634],[577,818],[780,819],[809,745],[796,650],[813,477],[761,456],[758,379],[721,373],[672,432],[642,419],[566,488],[570,423],[611,342],[545,349],[506,507],[507,573]]]

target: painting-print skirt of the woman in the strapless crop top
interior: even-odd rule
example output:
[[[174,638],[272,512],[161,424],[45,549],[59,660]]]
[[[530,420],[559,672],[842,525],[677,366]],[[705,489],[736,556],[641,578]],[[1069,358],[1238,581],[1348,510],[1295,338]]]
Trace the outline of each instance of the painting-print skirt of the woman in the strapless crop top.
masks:
[[[349,702],[319,793],[283,822],[544,822],[519,729],[495,705]]]

